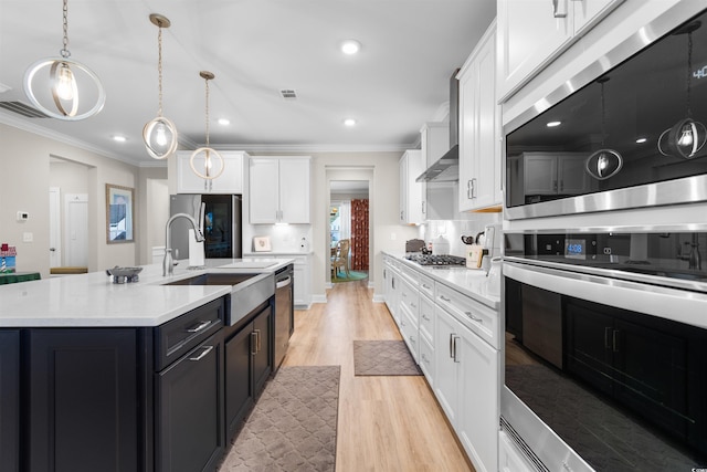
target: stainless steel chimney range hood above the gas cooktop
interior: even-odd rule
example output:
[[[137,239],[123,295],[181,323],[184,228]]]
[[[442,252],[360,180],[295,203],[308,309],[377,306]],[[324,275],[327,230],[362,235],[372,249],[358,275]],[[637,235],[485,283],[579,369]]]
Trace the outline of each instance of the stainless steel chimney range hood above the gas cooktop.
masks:
[[[416,182],[454,182],[460,179],[460,70],[450,78],[450,150],[415,179]]]

